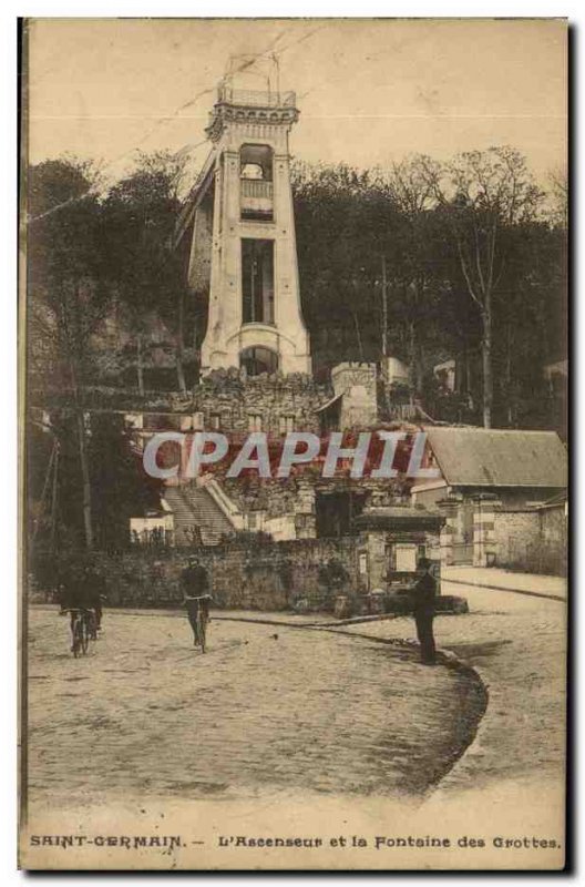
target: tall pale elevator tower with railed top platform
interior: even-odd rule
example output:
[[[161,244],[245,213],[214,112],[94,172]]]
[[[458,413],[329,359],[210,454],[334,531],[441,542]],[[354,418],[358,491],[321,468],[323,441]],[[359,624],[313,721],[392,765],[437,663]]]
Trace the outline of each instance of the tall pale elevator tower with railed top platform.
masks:
[[[264,90],[242,89],[242,79],[230,63],[176,235],[193,294],[208,293],[202,371],[310,374],[290,188],[296,98],[275,91],[269,73]]]

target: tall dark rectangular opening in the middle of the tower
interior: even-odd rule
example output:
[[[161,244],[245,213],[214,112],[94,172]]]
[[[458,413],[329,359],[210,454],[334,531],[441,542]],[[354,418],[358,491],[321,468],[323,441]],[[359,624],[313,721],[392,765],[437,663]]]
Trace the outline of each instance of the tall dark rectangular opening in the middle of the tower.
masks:
[[[274,324],[274,241],[242,241],[242,319]]]

